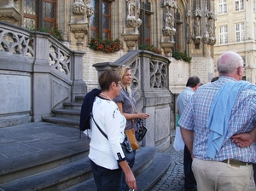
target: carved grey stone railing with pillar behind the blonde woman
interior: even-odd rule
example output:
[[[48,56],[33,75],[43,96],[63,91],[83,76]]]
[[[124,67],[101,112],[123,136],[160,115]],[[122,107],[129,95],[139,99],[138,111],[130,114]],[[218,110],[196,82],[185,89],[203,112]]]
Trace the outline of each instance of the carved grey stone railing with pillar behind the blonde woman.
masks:
[[[137,101],[137,113],[149,113],[148,132],[143,146],[157,147],[160,151],[170,146],[172,96],[169,90],[169,64],[166,56],[145,50],[131,50],[115,62],[93,65],[98,74],[119,65],[131,67],[132,90]]]

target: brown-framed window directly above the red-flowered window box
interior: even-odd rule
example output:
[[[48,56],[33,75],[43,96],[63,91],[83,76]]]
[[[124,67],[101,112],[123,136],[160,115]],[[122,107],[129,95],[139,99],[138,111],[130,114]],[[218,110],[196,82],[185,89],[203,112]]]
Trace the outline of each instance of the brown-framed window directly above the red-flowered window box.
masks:
[[[111,3],[108,0],[90,0],[94,14],[90,16],[90,36],[111,38]]]

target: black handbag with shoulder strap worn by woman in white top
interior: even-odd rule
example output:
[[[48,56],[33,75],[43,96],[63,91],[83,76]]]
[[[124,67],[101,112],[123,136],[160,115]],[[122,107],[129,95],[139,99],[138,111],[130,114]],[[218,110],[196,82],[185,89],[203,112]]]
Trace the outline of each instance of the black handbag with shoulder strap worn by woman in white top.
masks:
[[[96,121],[92,115],[91,115],[91,117],[92,117],[94,123],[96,124]],[[103,132],[103,130],[100,128],[100,126],[98,124],[96,124],[96,126],[101,131],[102,135],[105,136],[106,139],[108,139],[108,136],[106,135],[106,133]],[[128,165],[134,164],[135,153],[133,152],[133,150],[131,148],[131,143],[126,135],[125,135],[124,142],[121,142],[120,145],[121,145],[121,148],[123,149],[123,152],[125,154],[125,159],[126,159]]]

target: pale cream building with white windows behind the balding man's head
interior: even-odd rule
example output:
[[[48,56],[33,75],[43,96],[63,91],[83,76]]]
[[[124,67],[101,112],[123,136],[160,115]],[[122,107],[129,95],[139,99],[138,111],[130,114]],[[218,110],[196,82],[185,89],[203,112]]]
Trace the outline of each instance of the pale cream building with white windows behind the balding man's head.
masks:
[[[216,14],[214,63],[225,51],[236,51],[245,63],[244,79],[255,84],[256,0],[218,0]]]

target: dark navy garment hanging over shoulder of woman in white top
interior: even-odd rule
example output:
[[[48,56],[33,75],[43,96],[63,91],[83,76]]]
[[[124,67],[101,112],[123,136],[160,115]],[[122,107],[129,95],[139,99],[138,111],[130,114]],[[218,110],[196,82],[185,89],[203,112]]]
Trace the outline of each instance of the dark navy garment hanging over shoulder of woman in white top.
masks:
[[[79,124],[80,137],[81,137],[81,131],[90,130],[90,113],[92,110],[92,105],[95,97],[99,96],[101,92],[102,90],[93,89],[89,93],[87,93],[86,96],[84,97],[84,101],[83,101],[81,112],[80,112],[80,124]]]

